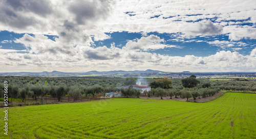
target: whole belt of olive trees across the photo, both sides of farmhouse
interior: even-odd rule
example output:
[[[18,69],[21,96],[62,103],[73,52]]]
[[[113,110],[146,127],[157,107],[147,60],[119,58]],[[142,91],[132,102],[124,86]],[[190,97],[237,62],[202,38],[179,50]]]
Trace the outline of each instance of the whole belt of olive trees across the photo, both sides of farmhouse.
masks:
[[[137,96],[140,91],[132,87],[120,88],[124,85],[136,84],[136,78],[79,78],[79,77],[10,77],[1,76],[0,81],[8,81],[8,95],[13,98],[41,97],[50,95],[60,101],[62,96],[72,96],[77,100],[80,96],[92,96],[103,94],[103,92],[121,91],[125,97]],[[172,79],[170,77],[145,79],[152,87],[151,91],[144,91],[143,95],[158,96],[162,99],[164,96],[193,98],[204,98],[212,96],[219,90],[239,90],[239,91],[256,91],[255,79],[234,78],[230,80],[208,80],[196,79],[195,75],[183,79]],[[4,84],[0,84],[0,96],[4,95]]]

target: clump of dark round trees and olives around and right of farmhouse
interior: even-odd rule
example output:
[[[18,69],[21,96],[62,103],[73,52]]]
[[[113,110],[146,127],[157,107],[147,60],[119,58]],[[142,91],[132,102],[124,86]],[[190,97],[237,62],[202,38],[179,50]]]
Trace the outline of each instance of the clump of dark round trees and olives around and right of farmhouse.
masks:
[[[135,79],[133,77],[129,77],[125,79],[125,84],[132,84],[135,82]],[[173,96],[177,98],[177,96],[180,96],[181,98],[187,98],[187,100],[191,97],[196,100],[197,97],[206,97],[206,96],[212,96],[216,92],[219,91],[219,89],[210,89],[210,82],[203,82],[201,84],[200,89],[197,87],[200,83],[199,80],[196,79],[195,75],[191,75],[190,77],[184,78],[181,80],[182,86],[177,85],[175,87],[172,86],[173,81],[164,78],[164,79],[157,79],[152,82],[150,82],[151,90],[150,91],[144,91],[144,95],[148,95],[150,97],[151,95],[156,97],[162,97],[168,95],[170,96],[170,99],[172,99]],[[184,87],[184,88],[183,88]],[[137,95],[139,97],[140,91],[130,87],[127,88],[121,88],[121,92],[124,96],[132,96]]]

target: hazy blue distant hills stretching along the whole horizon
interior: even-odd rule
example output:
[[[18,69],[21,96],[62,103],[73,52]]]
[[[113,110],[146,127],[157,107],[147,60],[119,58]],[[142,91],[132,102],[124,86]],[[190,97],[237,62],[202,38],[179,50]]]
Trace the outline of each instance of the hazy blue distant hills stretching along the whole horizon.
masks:
[[[135,75],[136,74],[136,75]],[[163,72],[156,71],[152,69],[147,69],[146,71],[108,71],[108,72],[98,72],[98,71],[90,71],[90,72],[80,72],[80,73],[65,73],[65,72],[40,72],[40,73],[31,73],[31,72],[19,72],[19,73],[0,73],[0,76],[49,76],[49,77],[79,77],[79,76],[103,76],[103,77],[189,77],[190,75],[200,76],[213,76],[213,75],[228,75],[228,77],[256,77],[255,72],[188,72],[183,71],[180,73],[172,73],[172,72]],[[230,76],[230,74],[232,74]],[[243,74],[243,76],[241,76]],[[247,76],[247,75],[249,76]]]

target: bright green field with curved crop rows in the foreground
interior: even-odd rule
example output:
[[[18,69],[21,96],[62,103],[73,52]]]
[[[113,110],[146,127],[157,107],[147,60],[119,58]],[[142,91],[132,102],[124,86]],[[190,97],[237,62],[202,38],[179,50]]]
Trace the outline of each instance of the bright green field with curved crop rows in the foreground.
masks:
[[[9,108],[0,138],[256,138],[256,95],[208,103],[109,99]],[[0,113],[4,125],[4,112]]]

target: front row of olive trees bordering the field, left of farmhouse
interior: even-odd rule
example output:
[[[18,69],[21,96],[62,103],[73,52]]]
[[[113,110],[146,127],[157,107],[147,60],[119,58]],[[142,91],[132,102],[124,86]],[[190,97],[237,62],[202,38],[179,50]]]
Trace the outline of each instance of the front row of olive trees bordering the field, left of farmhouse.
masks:
[[[4,96],[4,87],[0,86],[0,96]],[[109,88],[108,88],[109,89]],[[106,91],[108,91],[106,89]],[[112,88],[115,90],[115,88]],[[22,98],[23,101],[26,97],[32,97],[34,100],[38,96],[41,98],[41,102],[44,102],[45,95],[51,95],[54,98],[57,98],[60,101],[62,96],[70,95],[74,97],[74,100],[77,100],[81,95],[92,95],[93,97],[96,94],[99,94],[104,91],[104,88],[98,84],[93,86],[86,87],[85,85],[75,85],[68,87],[65,84],[60,85],[49,85],[49,84],[28,84],[24,86],[18,86],[16,84],[9,84],[8,86],[8,96],[11,98]]]

